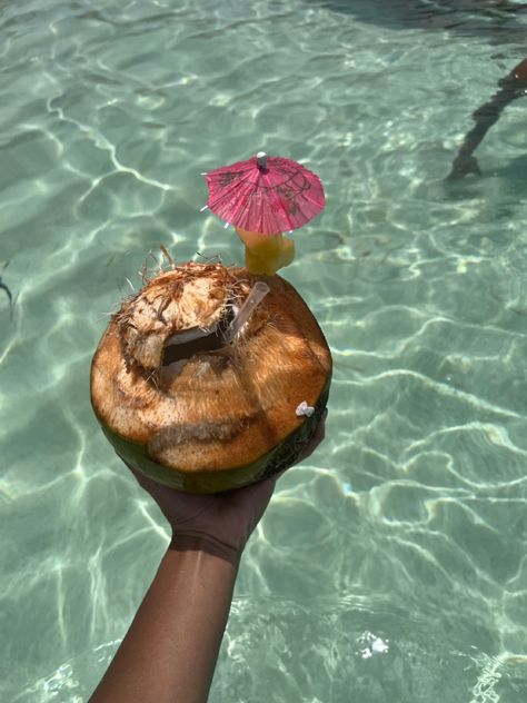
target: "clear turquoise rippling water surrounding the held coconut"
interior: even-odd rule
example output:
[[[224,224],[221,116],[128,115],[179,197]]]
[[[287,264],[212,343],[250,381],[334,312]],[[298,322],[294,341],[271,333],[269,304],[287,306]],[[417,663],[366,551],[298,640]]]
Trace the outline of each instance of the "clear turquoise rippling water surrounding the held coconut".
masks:
[[[200,172],[260,149],[326,187],[284,273],[335,380],[210,700],[527,699],[527,100],[480,179],[444,182],[527,17],[460,4],[0,4],[1,701],[86,701],[153,576],[166,525],[92,417],[90,360],[160,244],[241,261]]]

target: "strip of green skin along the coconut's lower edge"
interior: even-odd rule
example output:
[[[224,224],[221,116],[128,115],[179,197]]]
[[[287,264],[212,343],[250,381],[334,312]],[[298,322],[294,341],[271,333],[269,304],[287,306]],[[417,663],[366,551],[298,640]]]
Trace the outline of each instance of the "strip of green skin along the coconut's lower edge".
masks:
[[[186,493],[207,494],[221,493],[231,488],[241,488],[249,484],[274,476],[295,464],[314,436],[318,423],[326,409],[331,378],[322,389],[310,417],[290,433],[279,445],[251,464],[235,466],[213,472],[182,472],[153,462],[147,454],[145,445],[135,444],[109,429],[100,418],[102,432],[116,449],[117,454],[130,467],[153,478],[160,484]]]

